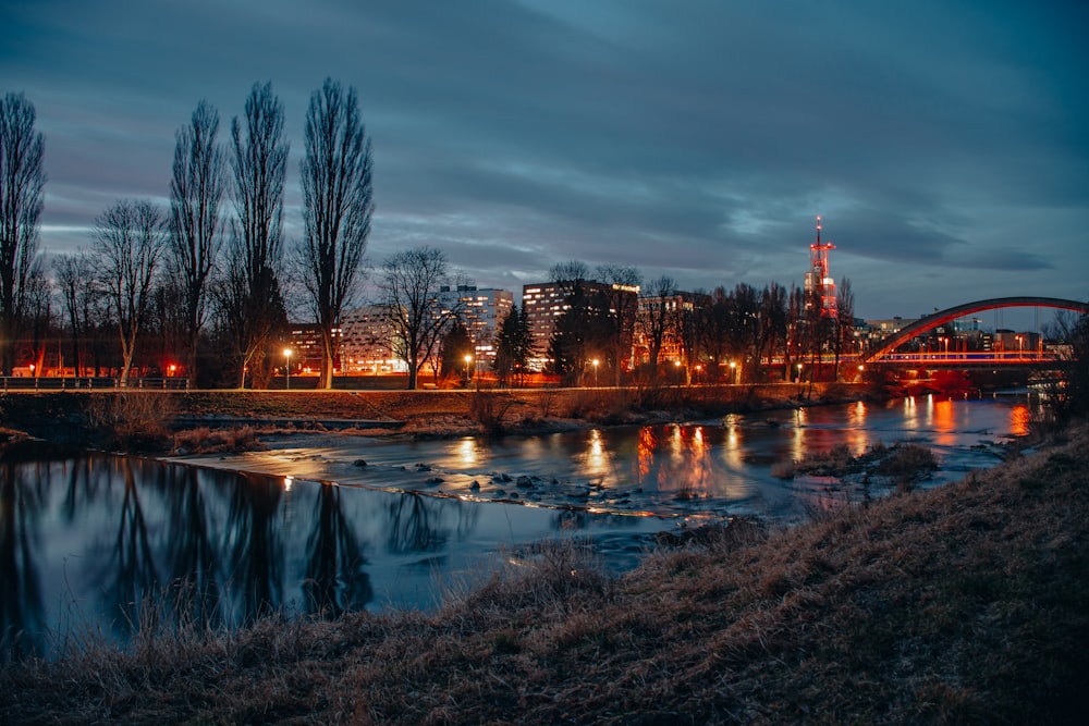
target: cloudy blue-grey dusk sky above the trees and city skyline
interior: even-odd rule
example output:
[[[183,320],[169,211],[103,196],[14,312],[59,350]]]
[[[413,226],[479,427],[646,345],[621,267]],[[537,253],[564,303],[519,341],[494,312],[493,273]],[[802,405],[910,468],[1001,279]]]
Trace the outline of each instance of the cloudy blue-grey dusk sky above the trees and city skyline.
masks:
[[[836,0],[3,0],[0,93],[46,136],[42,246],[166,202],[197,102],[271,81],[291,139],[354,86],[368,258],[431,245],[521,293],[555,262],[800,284],[815,217],[856,312],[1089,297],[1089,5]]]

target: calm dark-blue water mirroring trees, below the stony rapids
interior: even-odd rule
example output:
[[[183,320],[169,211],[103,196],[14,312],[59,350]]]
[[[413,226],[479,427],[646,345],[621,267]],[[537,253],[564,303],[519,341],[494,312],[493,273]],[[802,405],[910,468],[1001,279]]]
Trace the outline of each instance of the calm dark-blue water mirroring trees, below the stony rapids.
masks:
[[[3,661],[48,655],[82,632],[125,642],[142,626],[234,628],[281,607],[323,617],[430,606],[436,563],[475,573],[481,557],[573,524],[547,509],[293,477],[35,456],[0,452]],[[576,526],[590,533],[610,519]]]

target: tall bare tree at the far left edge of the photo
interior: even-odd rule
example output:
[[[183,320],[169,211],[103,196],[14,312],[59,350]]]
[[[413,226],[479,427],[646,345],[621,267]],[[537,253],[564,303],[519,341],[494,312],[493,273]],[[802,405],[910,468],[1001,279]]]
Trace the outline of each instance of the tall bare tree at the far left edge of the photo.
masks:
[[[14,342],[39,270],[38,220],[46,172],[45,140],[34,131],[34,104],[23,94],[0,101],[0,368],[11,376]]]

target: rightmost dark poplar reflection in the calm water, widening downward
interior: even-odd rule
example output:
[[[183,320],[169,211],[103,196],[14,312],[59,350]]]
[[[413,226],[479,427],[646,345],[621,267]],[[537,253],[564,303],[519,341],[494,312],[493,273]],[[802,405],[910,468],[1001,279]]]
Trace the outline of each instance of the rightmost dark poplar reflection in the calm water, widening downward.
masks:
[[[364,571],[366,558],[352,522],[341,506],[340,487],[317,488],[314,530],[307,538],[307,608],[335,617],[345,611],[359,611],[370,602],[374,591]]]

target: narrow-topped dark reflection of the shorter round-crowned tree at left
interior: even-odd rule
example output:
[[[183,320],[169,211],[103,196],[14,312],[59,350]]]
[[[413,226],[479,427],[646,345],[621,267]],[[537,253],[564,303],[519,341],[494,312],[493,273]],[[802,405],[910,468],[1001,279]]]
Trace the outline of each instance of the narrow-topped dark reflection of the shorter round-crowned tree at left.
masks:
[[[114,540],[110,561],[99,581],[106,582],[102,599],[107,612],[120,613],[122,618],[114,622],[119,631],[138,629],[140,606],[145,599],[150,601],[157,593],[158,577],[155,571],[155,561],[147,537],[147,521],[144,518],[144,507],[140,504],[139,491],[136,487],[136,476],[133,463],[127,457],[113,459],[121,469],[124,480],[124,494],[121,500],[120,518],[118,519],[118,536]],[[150,625],[150,624],[143,624]]]

